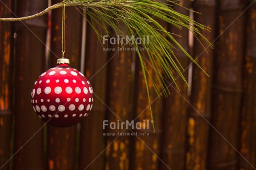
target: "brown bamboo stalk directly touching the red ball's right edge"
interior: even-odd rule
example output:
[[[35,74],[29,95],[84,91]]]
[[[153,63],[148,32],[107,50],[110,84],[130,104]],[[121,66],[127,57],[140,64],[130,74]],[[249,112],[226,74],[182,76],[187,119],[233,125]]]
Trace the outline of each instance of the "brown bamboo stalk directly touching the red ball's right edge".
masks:
[[[95,31],[87,23],[86,77],[90,80],[95,95],[89,116],[81,123],[80,169],[103,169],[104,136],[101,126],[106,115],[107,53],[102,49]],[[98,157],[99,156],[99,157]]]

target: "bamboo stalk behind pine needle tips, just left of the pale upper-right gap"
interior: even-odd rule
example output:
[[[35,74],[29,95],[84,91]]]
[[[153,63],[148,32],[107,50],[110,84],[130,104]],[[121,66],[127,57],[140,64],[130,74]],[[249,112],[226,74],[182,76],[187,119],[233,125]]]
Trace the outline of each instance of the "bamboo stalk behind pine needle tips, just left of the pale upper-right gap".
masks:
[[[190,2],[187,0],[179,1],[179,4],[186,8],[190,8]],[[189,15],[187,9],[174,6],[174,9],[185,15]],[[178,29],[173,26],[169,26],[169,31],[178,34],[181,37],[177,37],[181,46],[188,51],[188,30]],[[175,51],[175,55],[178,58],[181,65],[188,67],[188,57],[180,50]],[[178,73],[175,77],[179,77]],[[188,69],[184,72],[184,77],[188,78]],[[169,83],[173,81],[170,79]],[[164,114],[163,114],[163,134],[161,143],[161,159],[164,163],[160,163],[160,169],[184,169],[185,168],[185,154],[186,154],[186,128],[188,116],[186,109],[188,103],[183,97],[188,98],[188,86],[184,83],[180,77],[176,79],[176,83],[180,89],[180,92],[173,83],[170,87],[170,96],[164,99]],[[177,163],[179,162],[179,163]]]

